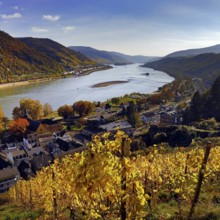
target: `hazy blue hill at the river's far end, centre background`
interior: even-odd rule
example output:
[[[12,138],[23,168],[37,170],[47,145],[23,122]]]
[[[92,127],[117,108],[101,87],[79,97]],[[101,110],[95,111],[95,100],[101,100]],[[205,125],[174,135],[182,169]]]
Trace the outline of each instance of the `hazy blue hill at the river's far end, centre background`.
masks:
[[[156,57],[130,56],[118,52],[97,50],[92,47],[71,46],[70,49],[78,51],[100,64],[130,64],[146,63]]]

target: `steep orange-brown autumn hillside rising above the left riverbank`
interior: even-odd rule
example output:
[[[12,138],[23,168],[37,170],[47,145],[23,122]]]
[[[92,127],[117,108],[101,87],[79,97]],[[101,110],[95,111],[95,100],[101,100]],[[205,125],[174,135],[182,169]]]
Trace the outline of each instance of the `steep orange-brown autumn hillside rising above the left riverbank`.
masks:
[[[34,47],[34,43],[31,47],[23,41],[25,40],[13,38],[0,31],[0,83],[59,75],[69,67],[94,63],[83,55],[76,56],[76,52],[68,48],[66,50],[69,53],[60,51],[59,48],[63,46],[49,39],[43,40],[45,45],[48,42],[48,46],[41,47],[44,50]],[[55,56],[56,50],[57,56]]]

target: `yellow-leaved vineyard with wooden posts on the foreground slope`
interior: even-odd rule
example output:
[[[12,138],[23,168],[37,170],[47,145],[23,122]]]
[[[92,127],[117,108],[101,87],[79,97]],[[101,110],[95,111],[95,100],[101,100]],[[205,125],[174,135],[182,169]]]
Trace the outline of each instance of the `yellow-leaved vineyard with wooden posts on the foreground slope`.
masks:
[[[220,202],[220,147],[209,149],[205,164],[204,147],[154,146],[133,154],[129,146],[122,131],[96,136],[88,150],[55,160],[29,181],[20,180],[8,193],[10,201],[41,210],[40,219],[76,220],[193,219],[196,191],[198,206],[203,195],[207,205],[213,201],[213,190]]]

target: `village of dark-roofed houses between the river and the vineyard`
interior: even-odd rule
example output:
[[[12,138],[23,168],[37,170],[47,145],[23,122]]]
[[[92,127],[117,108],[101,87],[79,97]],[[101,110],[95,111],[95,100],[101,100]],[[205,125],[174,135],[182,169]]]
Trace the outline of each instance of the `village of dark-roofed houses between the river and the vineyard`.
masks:
[[[191,93],[180,89],[182,82],[179,86],[174,84],[160,88],[156,94],[147,96],[147,99],[143,99],[141,94],[130,95],[130,99],[138,100],[136,103],[120,103],[121,100],[117,98],[113,98],[111,104],[96,103],[92,113],[81,115],[82,117],[78,115],[69,118],[64,115],[33,120],[26,111],[23,118],[28,121],[28,126],[23,138],[12,141],[8,130],[4,132],[0,143],[0,192],[7,191],[21,178],[27,180],[34,177],[39,170],[49,166],[57,158],[86,150],[87,144],[98,133],[122,130],[134,139],[141,137],[145,140],[144,145],[149,146],[153,142],[147,142],[146,139],[149,139],[148,133],[155,127],[162,130],[163,134],[167,128],[178,129],[182,124],[180,106],[183,103],[189,104]],[[164,97],[168,97],[167,92],[173,87],[182,92],[175,91],[170,97],[172,101],[164,101]],[[166,94],[163,100],[156,100],[164,91]],[[153,102],[155,100],[158,104]],[[83,121],[78,125],[80,129],[71,128],[73,123],[79,124],[80,121]],[[192,138],[193,136],[190,141]],[[133,150],[138,147],[134,146]]]

